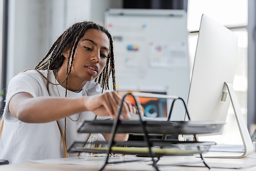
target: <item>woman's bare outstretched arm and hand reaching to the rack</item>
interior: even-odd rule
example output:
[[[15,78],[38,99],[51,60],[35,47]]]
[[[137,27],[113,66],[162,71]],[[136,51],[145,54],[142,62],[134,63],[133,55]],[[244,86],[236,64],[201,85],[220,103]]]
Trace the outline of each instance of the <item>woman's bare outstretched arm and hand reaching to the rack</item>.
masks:
[[[17,119],[27,123],[46,123],[55,121],[83,111],[92,111],[99,116],[115,118],[120,97],[115,92],[80,98],[33,97],[29,93],[15,94],[8,105],[10,113]],[[125,118],[135,108],[125,102],[122,110]]]

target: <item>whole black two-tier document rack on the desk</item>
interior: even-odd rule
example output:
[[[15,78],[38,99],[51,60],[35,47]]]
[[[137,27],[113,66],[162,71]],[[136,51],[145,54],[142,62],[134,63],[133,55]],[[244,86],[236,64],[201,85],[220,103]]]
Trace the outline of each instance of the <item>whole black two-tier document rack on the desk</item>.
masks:
[[[166,120],[146,120],[142,117],[141,111],[138,110],[139,118],[138,120],[120,120],[122,106],[124,98],[127,95],[133,96],[135,100],[135,106],[140,109],[140,103],[138,101],[138,96],[141,97],[154,97],[163,99],[173,99],[172,105],[170,106],[170,111],[168,118]],[[170,121],[170,116],[173,111],[174,102],[176,100],[181,100],[184,104],[186,110],[186,115],[188,121]],[[79,133],[102,133],[111,134],[109,142],[92,142],[92,144],[108,144],[108,147],[84,147],[86,143],[84,142],[74,142],[69,148],[69,152],[88,152],[88,153],[106,153],[105,164],[99,169],[102,170],[107,164],[126,162],[126,161],[116,161],[109,162],[109,154],[120,153],[120,154],[137,154],[141,156],[148,156],[152,158],[153,166],[158,169],[157,162],[160,160],[162,155],[164,156],[174,156],[174,155],[195,155],[199,154],[201,161],[206,167],[210,168],[203,159],[202,153],[208,151],[209,146],[216,144],[215,142],[199,142],[197,140],[197,134],[211,134],[218,133],[221,131],[224,122],[215,121],[191,121],[185,101],[178,96],[167,96],[167,95],[154,95],[148,93],[127,93],[123,96],[118,115],[115,120],[93,120],[84,121],[77,130]],[[115,134],[117,133],[129,133],[129,134],[143,134],[144,141],[133,141],[133,142],[116,142],[114,141]],[[162,135],[162,140],[152,140],[149,138],[149,134]],[[175,141],[166,140],[166,135],[193,135],[193,141]],[[130,147],[124,147],[130,146]],[[157,157],[157,159],[155,159]],[[134,160],[134,161],[139,161]],[[195,163],[195,162],[193,162]],[[180,163],[182,164],[182,163]],[[180,165],[175,164],[175,165]],[[168,164],[173,165],[173,164]]]

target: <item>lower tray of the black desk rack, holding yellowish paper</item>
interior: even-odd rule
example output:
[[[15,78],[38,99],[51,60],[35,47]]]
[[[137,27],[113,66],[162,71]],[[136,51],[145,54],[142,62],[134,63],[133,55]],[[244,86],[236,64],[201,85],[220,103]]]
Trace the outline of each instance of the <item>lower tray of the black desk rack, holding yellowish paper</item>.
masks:
[[[156,155],[165,156],[179,156],[179,155],[194,155],[202,154],[208,151],[210,145],[216,145],[215,142],[195,142],[195,141],[174,141],[174,140],[150,140],[153,146],[160,148],[153,148],[153,152]],[[70,153],[75,152],[86,152],[86,153],[107,153],[109,147],[94,147],[84,148],[82,147],[84,142],[74,142],[69,147]],[[95,141],[92,144],[104,144],[107,145],[106,141]],[[127,142],[115,142],[112,147],[112,153],[125,153],[131,155],[145,155],[148,154],[148,148],[146,142],[143,141],[127,141]],[[127,146],[127,147],[123,147]],[[200,146],[200,148],[198,148]]]

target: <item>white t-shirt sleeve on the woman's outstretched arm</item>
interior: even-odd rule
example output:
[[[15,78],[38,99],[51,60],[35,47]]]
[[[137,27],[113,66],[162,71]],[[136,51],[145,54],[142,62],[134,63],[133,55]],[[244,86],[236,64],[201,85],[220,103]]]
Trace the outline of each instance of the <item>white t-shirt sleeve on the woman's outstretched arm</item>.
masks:
[[[21,92],[26,92],[36,97],[36,92],[38,91],[38,82],[30,74],[20,73],[13,77],[9,83],[6,96],[6,106],[4,110],[4,118],[7,121],[13,121],[14,118],[9,111],[9,102],[11,98]]]

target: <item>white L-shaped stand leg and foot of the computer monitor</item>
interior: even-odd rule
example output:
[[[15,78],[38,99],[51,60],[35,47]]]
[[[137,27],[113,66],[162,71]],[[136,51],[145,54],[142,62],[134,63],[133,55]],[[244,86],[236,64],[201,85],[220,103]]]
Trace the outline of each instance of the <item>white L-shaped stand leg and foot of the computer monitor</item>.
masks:
[[[227,87],[228,94],[230,97],[230,101],[233,106],[234,115],[236,116],[236,120],[239,127],[239,132],[244,145],[244,152],[241,153],[233,153],[233,152],[208,152],[203,157],[206,158],[243,158],[249,156],[253,152],[253,145],[251,142],[251,138],[245,124],[245,120],[243,118],[243,114],[240,109],[240,105],[238,103],[238,99],[236,93],[234,92],[233,86],[231,83],[224,82]]]

